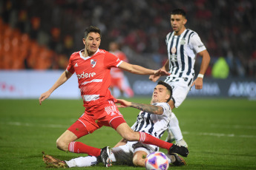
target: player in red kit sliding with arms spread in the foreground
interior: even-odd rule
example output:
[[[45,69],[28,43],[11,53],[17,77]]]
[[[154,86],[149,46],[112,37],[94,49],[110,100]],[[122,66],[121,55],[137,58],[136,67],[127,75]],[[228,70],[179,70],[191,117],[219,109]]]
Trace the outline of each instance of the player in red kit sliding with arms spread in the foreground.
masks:
[[[144,132],[134,132],[125,122],[122,114],[115,106],[116,99],[111,95],[108,87],[111,84],[111,67],[119,67],[128,72],[139,75],[169,75],[162,69],[146,69],[121,61],[115,55],[99,49],[101,32],[99,28],[90,26],[85,30],[83,43],[85,49],[73,52],[65,72],[53,86],[42,93],[39,103],[49,98],[50,94],[59,86],[68,81],[68,78],[76,72],[79,89],[83,98],[85,112],[66,130],[56,141],[57,148],[74,153],[85,153],[101,157],[102,162],[107,165],[110,149],[98,149],[76,140],[82,136],[94,132],[102,126],[111,126],[122,138],[128,141],[140,141],[146,144],[168,149],[169,153],[177,153],[182,156],[188,155],[188,150],[183,146],[167,143]]]

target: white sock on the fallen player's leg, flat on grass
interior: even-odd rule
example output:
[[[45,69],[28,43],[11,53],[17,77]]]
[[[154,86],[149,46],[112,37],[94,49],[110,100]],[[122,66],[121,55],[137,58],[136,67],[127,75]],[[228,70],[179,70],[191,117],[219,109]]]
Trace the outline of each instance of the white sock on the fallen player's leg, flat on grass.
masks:
[[[77,157],[72,160],[65,160],[69,168],[94,166],[97,163],[97,158],[93,156]]]

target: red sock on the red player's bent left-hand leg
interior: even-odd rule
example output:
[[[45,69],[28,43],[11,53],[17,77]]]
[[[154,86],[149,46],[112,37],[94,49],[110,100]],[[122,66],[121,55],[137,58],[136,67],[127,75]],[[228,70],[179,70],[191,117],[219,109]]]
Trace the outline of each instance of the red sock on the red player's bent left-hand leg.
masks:
[[[100,155],[101,149],[85,145],[81,142],[70,142],[68,145],[68,151],[77,154],[89,154],[91,156],[98,157]]]

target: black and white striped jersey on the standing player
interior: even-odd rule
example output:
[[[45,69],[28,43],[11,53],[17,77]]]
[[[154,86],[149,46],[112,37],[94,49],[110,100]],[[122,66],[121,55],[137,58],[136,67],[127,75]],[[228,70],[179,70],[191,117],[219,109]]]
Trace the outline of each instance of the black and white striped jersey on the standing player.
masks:
[[[196,32],[186,29],[181,35],[168,33],[165,39],[169,59],[169,75],[165,82],[175,78],[194,78],[194,62],[198,52],[206,50]]]

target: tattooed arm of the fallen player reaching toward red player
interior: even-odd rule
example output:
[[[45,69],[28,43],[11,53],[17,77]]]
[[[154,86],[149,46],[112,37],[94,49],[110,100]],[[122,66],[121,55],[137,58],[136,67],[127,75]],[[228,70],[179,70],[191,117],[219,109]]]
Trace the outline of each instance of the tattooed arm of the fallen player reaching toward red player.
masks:
[[[134,103],[130,101],[125,101],[123,99],[116,99],[116,103],[120,103],[120,105],[116,105],[117,107],[134,107],[136,109],[140,109],[142,111],[153,113],[155,115],[163,115],[163,107],[161,106],[154,106],[151,104],[142,104],[142,103]]]

